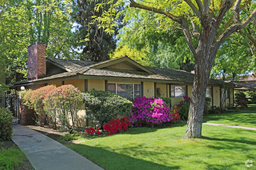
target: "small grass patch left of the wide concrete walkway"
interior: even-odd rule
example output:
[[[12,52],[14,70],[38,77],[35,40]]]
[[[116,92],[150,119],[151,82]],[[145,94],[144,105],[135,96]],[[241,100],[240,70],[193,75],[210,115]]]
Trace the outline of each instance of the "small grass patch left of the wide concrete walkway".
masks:
[[[3,148],[4,142],[0,143],[0,170],[13,170],[22,165],[25,155],[19,148]]]

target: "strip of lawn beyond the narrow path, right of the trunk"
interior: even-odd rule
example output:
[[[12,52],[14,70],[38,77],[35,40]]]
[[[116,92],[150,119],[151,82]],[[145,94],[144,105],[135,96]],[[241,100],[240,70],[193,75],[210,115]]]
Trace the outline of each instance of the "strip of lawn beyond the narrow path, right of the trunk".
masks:
[[[204,122],[256,128],[256,112],[240,111],[204,116]]]

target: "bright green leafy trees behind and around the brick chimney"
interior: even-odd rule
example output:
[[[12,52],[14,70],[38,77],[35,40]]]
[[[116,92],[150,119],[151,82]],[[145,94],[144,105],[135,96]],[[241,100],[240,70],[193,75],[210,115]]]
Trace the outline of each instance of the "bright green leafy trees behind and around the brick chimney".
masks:
[[[27,76],[27,46],[34,42],[45,42],[49,57],[78,57],[71,7],[71,0],[0,1],[0,62],[7,66],[7,83],[15,82],[18,73]]]

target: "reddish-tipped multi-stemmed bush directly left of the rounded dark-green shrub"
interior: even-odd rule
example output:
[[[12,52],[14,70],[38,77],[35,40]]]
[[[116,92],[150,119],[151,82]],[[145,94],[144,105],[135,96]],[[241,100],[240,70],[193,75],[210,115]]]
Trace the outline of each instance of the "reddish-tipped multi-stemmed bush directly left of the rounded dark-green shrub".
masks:
[[[82,107],[82,93],[73,85],[63,85],[49,91],[43,100],[45,111],[54,117],[58,117],[58,123],[66,126],[70,132],[77,123],[78,111]],[[72,123],[72,124],[71,124]]]

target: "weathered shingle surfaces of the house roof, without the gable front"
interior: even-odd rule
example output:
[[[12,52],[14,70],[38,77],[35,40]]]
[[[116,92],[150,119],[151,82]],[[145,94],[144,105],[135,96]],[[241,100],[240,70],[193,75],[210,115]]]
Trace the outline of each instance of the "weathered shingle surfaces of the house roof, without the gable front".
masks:
[[[124,58],[124,57],[122,57]],[[158,80],[176,80],[193,83],[194,81],[194,74],[189,73],[183,70],[176,70],[176,69],[167,69],[167,68],[154,68],[154,67],[147,67],[143,66],[144,68],[152,71],[154,74],[147,73],[144,71],[131,71],[131,70],[120,70],[120,69],[93,69],[92,67],[95,65],[104,64],[110,62],[112,60],[104,61],[104,62],[88,62],[82,60],[68,60],[68,59],[61,59],[61,58],[47,58],[51,61],[56,62],[73,71],[65,72],[65,73],[58,73],[56,75],[50,75],[41,79],[37,80],[27,80],[26,82],[34,82],[34,81],[41,81],[41,80],[50,80],[62,77],[69,77],[74,75],[95,75],[95,76],[110,76],[110,77],[129,77],[129,78],[142,78],[142,79],[158,79]],[[15,84],[20,84],[21,82],[16,82]],[[22,81],[24,83],[24,81]],[[219,80],[210,79],[209,84],[220,84]]]

